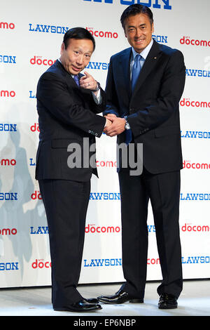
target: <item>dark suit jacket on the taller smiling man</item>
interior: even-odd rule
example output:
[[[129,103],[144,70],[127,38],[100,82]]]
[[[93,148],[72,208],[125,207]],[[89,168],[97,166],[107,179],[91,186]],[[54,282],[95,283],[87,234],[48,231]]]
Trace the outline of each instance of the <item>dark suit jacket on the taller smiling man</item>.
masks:
[[[128,115],[135,143],[143,143],[144,166],[151,173],[182,168],[179,100],[186,79],[181,51],[155,40],[139,74],[134,92],[130,85],[130,56],[127,48],[110,60],[104,114]],[[125,132],[118,144],[125,142]]]

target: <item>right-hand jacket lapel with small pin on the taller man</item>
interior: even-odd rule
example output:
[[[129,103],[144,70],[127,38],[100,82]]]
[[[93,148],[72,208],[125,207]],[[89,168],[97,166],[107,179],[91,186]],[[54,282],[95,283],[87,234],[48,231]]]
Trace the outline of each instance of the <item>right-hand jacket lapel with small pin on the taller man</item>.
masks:
[[[146,77],[151,73],[155,65],[157,64],[158,60],[160,59],[162,53],[160,51],[158,43],[154,40],[153,46],[151,48],[151,51],[148,53],[147,58],[144,62],[144,65],[141,69],[141,72],[139,74],[139,78],[137,79],[137,84],[134,88],[134,91],[132,93],[132,98],[135,97],[137,94],[137,91],[139,88],[141,88],[141,85],[144,83]]]

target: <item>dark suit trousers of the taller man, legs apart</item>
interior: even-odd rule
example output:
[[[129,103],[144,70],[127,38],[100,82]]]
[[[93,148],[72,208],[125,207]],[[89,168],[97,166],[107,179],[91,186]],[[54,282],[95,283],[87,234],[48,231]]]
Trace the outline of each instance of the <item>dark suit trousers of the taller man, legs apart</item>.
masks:
[[[122,289],[144,298],[148,254],[148,201],[151,201],[158,245],[162,283],[158,294],[179,297],[182,286],[181,242],[179,236],[180,171],[130,176],[128,169],[119,173],[123,273]]]

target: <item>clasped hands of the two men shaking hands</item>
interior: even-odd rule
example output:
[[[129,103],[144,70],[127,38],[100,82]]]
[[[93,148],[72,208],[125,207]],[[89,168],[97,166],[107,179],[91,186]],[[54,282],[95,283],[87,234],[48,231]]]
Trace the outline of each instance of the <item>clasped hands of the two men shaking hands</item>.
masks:
[[[117,117],[116,114],[107,114],[104,133],[107,136],[118,136],[118,134],[125,131],[125,119]]]

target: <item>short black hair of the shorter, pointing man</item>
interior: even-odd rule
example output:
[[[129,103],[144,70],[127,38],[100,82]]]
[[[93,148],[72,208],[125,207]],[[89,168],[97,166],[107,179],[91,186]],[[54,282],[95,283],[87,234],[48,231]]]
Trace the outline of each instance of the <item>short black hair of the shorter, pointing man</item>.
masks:
[[[83,27],[73,27],[64,34],[63,42],[65,45],[65,49],[69,46],[69,39],[89,39],[92,41],[93,51],[94,51],[95,48],[94,37],[87,29],[84,29]]]

